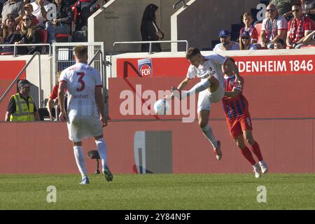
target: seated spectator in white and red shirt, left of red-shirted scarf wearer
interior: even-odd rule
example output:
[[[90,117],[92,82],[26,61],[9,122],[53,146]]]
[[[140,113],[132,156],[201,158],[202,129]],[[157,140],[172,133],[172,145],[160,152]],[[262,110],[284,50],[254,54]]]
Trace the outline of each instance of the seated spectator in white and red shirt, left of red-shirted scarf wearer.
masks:
[[[262,28],[260,33],[262,48],[274,48],[274,41],[277,38],[286,40],[286,32],[288,22],[285,18],[278,15],[278,11],[274,4],[269,4],[266,8],[267,18],[262,20]]]

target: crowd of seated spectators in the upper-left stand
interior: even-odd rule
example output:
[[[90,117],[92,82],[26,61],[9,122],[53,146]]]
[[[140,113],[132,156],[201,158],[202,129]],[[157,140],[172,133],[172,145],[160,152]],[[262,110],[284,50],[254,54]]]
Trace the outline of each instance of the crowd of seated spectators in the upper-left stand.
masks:
[[[51,44],[57,41],[56,34],[71,36],[75,32],[87,32],[87,18],[94,12],[91,12],[90,7],[96,2],[97,0],[0,0],[0,44]],[[106,1],[100,2],[102,3]],[[18,48],[22,54],[31,54],[34,50],[38,49]],[[0,47],[0,54],[3,52],[13,52],[13,48]]]

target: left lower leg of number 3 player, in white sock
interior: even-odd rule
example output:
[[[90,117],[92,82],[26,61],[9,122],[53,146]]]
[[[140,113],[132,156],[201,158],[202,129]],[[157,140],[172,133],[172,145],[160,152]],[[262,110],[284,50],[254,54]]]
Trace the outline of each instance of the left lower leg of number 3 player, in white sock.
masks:
[[[82,181],[80,182],[80,184],[89,184],[90,180],[87,177],[82,141],[73,141],[73,153],[74,158],[76,158],[76,165],[78,166],[78,170],[80,171],[80,174],[82,176]]]

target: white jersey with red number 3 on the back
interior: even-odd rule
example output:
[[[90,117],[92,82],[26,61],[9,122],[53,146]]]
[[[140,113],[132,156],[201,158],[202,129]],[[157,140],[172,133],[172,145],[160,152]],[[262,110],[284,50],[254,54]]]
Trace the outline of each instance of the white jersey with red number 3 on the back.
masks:
[[[99,117],[95,102],[95,87],[102,86],[102,79],[97,69],[77,63],[64,69],[59,81],[66,83],[68,116]]]

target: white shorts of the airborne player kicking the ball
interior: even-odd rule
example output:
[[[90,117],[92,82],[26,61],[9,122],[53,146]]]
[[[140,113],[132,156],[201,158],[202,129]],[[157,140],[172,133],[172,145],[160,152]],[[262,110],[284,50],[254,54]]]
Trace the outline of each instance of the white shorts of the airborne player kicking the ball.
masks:
[[[224,88],[222,85],[219,85],[216,92],[209,92],[208,89],[200,92],[198,96],[197,112],[202,110],[211,111],[211,103],[219,102],[223,97]]]

